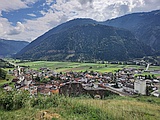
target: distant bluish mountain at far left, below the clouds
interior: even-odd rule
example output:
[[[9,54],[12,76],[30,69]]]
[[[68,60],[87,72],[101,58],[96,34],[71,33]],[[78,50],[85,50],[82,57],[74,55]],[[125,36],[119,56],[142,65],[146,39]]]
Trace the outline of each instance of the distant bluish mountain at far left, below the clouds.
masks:
[[[0,39],[0,56],[5,57],[16,54],[28,44],[26,41]]]

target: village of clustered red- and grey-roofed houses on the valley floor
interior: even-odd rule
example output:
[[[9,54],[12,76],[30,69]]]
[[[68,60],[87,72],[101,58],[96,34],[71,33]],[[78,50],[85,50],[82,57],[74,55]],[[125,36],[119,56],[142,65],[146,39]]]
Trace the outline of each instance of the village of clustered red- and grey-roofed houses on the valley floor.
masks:
[[[90,95],[93,98],[104,98],[110,94],[120,96],[152,95],[160,97],[160,79],[154,75],[138,75],[144,69],[124,68],[115,73],[55,72],[49,68],[33,70],[29,67],[17,66],[9,70],[15,76],[12,80],[14,88],[3,85],[6,91],[12,89],[29,91],[31,96],[38,94],[63,94],[67,96]]]

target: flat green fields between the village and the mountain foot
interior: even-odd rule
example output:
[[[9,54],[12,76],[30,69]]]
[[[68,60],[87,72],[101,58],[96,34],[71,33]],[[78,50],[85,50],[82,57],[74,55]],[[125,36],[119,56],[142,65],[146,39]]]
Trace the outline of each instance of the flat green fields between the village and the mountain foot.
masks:
[[[119,64],[98,64],[98,63],[78,63],[78,62],[55,62],[55,61],[36,61],[19,63],[21,66],[30,66],[32,69],[38,70],[41,67],[47,67],[57,72],[67,71],[97,71],[97,72],[115,72],[122,68],[143,68],[145,66],[137,65],[119,65]],[[149,70],[160,70],[160,66],[150,66]],[[148,73],[146,73],[148,74]],[[159,74],[156,76],[160,76]]]

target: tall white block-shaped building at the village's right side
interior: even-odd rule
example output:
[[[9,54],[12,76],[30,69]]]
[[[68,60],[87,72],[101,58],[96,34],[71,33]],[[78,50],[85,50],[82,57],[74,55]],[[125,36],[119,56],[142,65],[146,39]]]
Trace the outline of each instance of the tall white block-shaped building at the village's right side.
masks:
[[[137,79],[134,82],[134,92],[142,95],[146,95],[146,81],[143,79]]]

